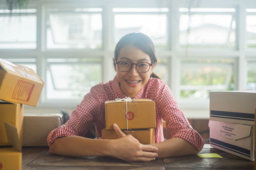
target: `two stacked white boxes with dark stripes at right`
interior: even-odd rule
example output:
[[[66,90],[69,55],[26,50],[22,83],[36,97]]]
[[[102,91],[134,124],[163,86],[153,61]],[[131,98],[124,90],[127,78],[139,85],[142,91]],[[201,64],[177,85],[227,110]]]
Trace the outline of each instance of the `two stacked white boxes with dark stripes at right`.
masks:
[[[210,145],[254,161],[256,92],[210,92]]]

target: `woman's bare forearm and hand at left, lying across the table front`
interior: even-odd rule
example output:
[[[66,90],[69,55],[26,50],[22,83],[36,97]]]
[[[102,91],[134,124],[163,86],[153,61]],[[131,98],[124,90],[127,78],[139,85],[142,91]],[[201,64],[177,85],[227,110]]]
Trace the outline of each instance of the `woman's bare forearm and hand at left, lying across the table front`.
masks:
[[[50,152],[67,156],[111,156],[133,161],[151,161],[157,157],[157,147],[142,145],[131,135],[118,139],[88,139],[80,136],[58,138]]]

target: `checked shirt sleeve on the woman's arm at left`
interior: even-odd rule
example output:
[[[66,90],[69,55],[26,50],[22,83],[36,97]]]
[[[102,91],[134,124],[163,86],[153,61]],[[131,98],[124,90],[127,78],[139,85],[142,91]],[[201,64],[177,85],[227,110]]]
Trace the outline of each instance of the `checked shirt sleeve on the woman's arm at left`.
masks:
[[[86,94],[83,101],[77,105],[69,120],[49,133],[47,137],[48,145],[50,146],[56,138],[63,136],[84,136],[90,125],[95,121],[93,115],[99,113],[101,105],[99,99],[97,99],[97,87],[93,87],[91,92]]]

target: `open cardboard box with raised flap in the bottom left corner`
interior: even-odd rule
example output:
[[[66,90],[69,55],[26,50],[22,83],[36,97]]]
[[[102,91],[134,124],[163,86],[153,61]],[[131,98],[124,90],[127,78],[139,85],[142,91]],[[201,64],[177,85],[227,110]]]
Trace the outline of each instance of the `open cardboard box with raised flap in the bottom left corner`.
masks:
[[[4,122],[8,141],[12,144],[12,148],[0,148],[0,165],[1,170],[21,170],[22,168],[22,153],[21,143],[17,128],[7,122]]]

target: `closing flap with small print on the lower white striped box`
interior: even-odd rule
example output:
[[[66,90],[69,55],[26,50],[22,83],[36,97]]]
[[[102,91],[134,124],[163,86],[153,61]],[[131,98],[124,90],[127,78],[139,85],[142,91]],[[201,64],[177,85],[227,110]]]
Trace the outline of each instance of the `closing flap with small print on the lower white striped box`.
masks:
[[[241,124],[227,124],[221,122],[221,136],[223,138],[239,140],[251,135],[252,126]]]

